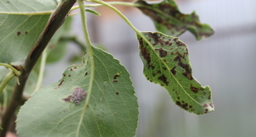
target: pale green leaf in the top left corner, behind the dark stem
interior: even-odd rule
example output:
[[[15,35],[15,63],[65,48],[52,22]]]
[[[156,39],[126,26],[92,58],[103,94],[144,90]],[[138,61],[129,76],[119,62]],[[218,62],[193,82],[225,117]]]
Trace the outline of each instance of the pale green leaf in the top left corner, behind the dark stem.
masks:
[[[2,0],[0,62],[24,60],[57,3],[54,0]]]

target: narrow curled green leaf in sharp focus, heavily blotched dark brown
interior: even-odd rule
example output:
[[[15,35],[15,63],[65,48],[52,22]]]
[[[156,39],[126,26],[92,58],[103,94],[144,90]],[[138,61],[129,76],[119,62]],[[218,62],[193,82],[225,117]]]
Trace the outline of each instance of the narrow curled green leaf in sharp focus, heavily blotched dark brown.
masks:
[[[144,75],[167,89],[174,103],[190,113],[214,110],[210,87],[201,87],[192,76],[187,46],[177,37],[142,32],[139,40]]]

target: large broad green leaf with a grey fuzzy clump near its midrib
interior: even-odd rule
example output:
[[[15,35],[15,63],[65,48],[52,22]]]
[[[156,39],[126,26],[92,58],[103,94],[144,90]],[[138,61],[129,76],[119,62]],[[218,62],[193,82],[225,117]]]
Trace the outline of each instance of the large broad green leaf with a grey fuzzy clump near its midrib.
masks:
[[[78,136],[135,135],[139,112],[129,73],[103,50],[93,48],[93,53],[94,82],[85,115],[88,96],[76,105],[71,95],[77,88],[88,94],[92,69],[88,54],[82,65],[70,66],[62,79],[35,92],[21,107],[19,136],[75,136],[78,126]]]

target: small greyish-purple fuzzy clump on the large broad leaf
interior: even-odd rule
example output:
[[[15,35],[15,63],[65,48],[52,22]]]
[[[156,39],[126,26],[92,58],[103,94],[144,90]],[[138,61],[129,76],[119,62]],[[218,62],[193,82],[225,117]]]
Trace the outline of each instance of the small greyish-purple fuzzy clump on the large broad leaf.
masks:
[[[71,99],[74,101],[76,105],[79,105],[82,100],[85,99],[86,92],[82,88],[75,88],[75,91],[73,91]]]

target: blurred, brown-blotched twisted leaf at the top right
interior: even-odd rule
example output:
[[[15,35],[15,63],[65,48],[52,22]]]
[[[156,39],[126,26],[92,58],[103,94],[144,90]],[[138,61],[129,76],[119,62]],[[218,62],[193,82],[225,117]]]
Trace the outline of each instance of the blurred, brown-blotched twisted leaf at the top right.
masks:
[[[178,37],[186,30],[190,30],[197,40],[210,37],[214,33],[208,24],[200,23],[196,12],[182,14],[173,0],[164,0],[156,4],[139,0],[136,7],[154,21],[158,31],[173,37]]]

